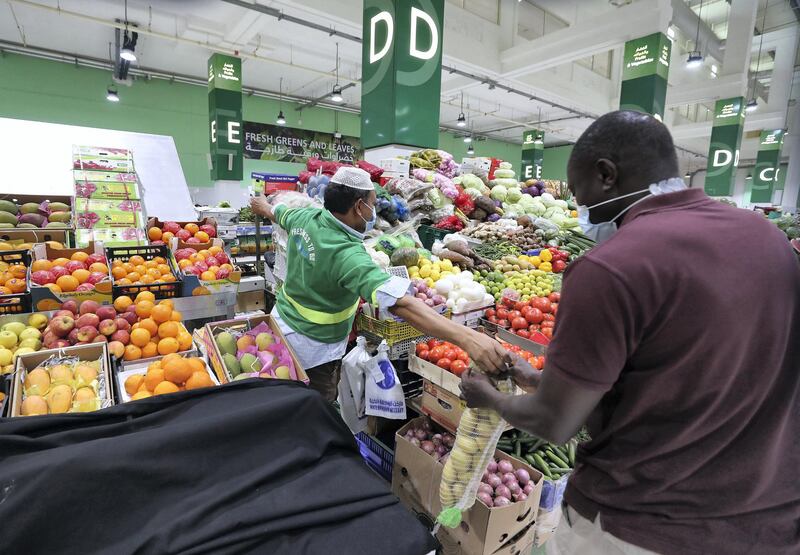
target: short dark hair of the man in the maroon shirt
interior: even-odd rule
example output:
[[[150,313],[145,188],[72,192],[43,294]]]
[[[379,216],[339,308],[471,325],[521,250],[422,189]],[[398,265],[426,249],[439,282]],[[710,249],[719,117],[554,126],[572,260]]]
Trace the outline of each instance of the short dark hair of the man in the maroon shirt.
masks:
[[[667,126],[650,114],[619,110],[598,118],[580,136],[570,163],[606,158],[631,173],[678,172],[678,155]]]

